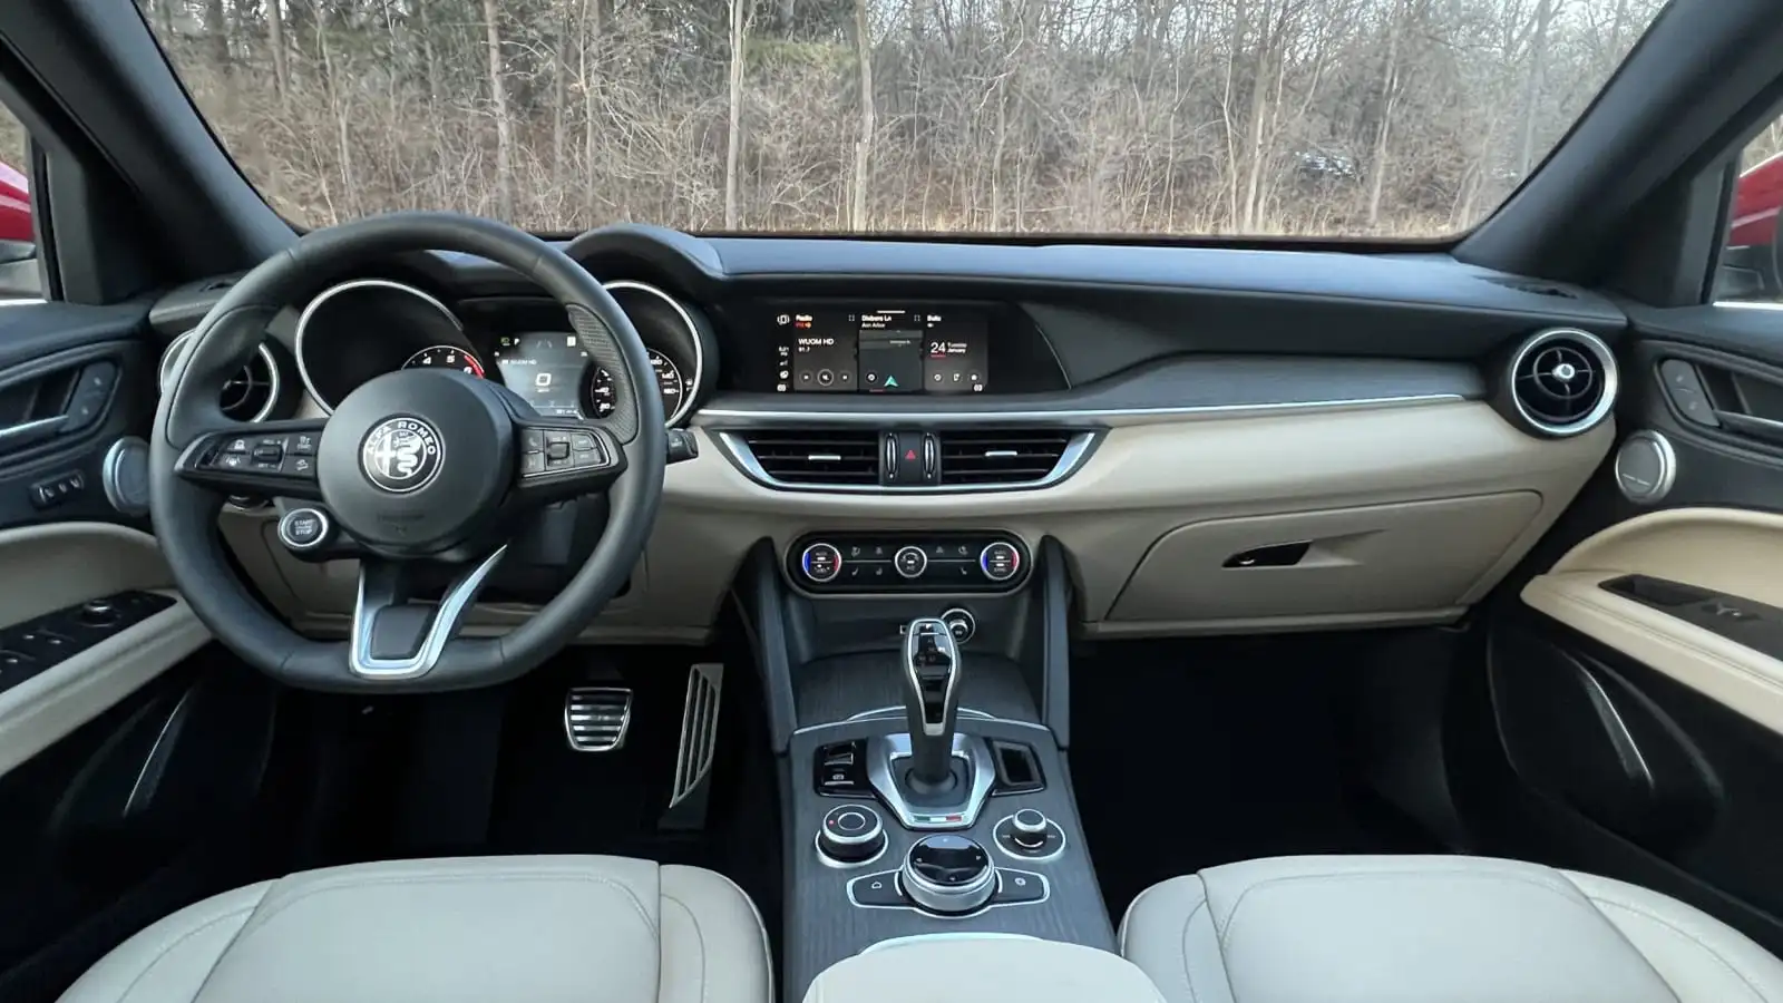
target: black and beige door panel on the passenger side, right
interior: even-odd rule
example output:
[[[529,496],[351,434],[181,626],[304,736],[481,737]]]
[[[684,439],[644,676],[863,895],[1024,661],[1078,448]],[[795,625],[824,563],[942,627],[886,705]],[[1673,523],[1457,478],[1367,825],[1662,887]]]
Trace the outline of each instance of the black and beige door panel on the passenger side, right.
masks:
[[[1628,312],[1617,427],[1664,464],[1606,462],[1494,596],[1451,705],[1457,787],[1482,850],[1783,953],[1783,312]]]

